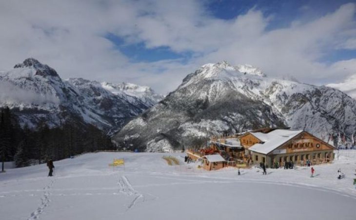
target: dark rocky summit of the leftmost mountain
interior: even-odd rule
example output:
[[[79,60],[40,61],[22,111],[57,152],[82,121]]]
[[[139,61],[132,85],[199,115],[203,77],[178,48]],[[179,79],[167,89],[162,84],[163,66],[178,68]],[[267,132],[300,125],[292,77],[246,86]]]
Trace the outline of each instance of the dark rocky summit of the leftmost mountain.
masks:
[[[58,73],[51,67],[49,67],[46,64],[42,64],[40,63],[40,61],[38,61],[35,58],[27,58],[25,59],[22,63],[18,63],[14,66],[15,69],[17,68],[31,68],[31,69],[35,69],[36,73],[35,75],[40,75],[43,77],[46,76],[55,76],[55,77],[59,77]]]

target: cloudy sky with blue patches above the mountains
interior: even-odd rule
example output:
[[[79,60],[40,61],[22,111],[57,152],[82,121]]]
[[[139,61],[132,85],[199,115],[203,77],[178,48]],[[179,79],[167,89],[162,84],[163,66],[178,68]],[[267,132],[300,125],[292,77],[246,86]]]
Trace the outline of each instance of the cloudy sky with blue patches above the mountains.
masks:
[[[176,89],[205,63],[324,85],[356,74],[351,0],[0,0],[0,70]]]

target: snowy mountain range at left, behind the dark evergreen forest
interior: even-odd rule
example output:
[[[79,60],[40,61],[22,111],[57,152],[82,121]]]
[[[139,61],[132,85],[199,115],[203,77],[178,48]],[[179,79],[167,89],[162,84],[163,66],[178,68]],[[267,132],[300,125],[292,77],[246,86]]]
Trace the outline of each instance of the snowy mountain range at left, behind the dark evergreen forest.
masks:
[[[56,127],[76,118],[113,133],[159,100],[148,87],[130,84],[132,89],[127,92],[121,85],[125,84],[62,80],[51,67],[28,58],[13,70],[0,73],[0,107],[13,109],[21,125],[29,127],[41,120]],[[136,91],[140,95],[135,95]]]

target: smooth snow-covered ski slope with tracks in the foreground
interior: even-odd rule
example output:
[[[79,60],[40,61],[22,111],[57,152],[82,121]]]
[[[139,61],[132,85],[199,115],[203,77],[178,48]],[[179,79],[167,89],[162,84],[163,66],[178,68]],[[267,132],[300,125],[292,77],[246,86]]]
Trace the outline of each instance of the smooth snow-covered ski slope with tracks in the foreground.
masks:
[[[99,152],[0,174],[1,220],[355,220],[356,151],[331,165],[205,171],[182,153]],[[178,158],[168,165],[164,155]],[[125,167],[109,167],[123,158]],[[337,169],[346,174],[337,180]]]

